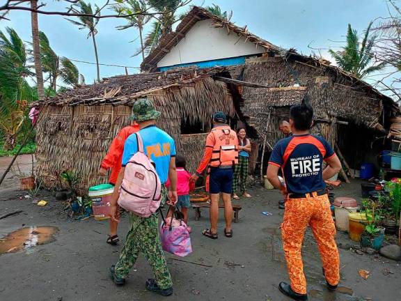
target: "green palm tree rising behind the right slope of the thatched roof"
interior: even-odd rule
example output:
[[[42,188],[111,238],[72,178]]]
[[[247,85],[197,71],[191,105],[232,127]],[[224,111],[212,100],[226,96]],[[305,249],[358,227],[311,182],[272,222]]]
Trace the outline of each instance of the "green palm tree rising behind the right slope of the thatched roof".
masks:
[[[362,43],[359,43],[358,33],[352,29],[351,24],[348,24],[347,45],[337,52],[329,50],[329,53],[341,69],[352,73],[352,75],[360,79],[372,72],[382,70],[386,66],[384,62],[377,65],[372,62],[375,57],[373,47],[377,36],[370,36],[371,26],[372,22],[370,22],[365,31]]]

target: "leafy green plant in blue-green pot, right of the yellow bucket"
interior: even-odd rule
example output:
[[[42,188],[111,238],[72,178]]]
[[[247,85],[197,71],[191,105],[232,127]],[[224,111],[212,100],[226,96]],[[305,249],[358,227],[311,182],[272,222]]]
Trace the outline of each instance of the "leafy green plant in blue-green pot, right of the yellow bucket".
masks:
[[[383,219],[380,214],[381,201],[379,199],[365,199],[362,201],[362,206],[368,224],[365,226],[365,231],[361,236],[361,246],[378,250],[382,247],[385,231],[384,227],[379,226]]]

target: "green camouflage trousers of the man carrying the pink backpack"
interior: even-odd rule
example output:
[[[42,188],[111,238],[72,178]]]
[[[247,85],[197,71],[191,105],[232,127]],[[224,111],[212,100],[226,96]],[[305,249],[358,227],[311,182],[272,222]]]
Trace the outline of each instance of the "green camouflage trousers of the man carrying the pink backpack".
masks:
[[[163,187],[162,204],[166,201],[166,196],[167,190]],[[116,275],[126,278],[129,269],[135,264],[136,258],[139,254],[143,254],[152,268],[157,286],[162,289],[172,287],[173,281],[159,239],[158,213],[150,217],[139,217],[132,214],[130,220],[131,227],[127,234],[127,240],[116,263]]]

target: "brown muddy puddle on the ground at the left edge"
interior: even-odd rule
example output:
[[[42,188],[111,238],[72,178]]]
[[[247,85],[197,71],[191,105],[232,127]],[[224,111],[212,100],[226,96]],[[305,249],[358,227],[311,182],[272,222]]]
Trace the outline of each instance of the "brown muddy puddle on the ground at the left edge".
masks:
[[[44,245],[55,240],[58,232],[55,226],[31,226],[13,231],[0,238],[0,255],[29,250],[36,245]]]

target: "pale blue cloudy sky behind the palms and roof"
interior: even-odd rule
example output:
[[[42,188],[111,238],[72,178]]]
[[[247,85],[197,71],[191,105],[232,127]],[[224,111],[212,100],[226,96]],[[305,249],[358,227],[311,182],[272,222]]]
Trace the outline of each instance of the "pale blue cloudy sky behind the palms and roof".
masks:
[[[0,5],[5,0],[0,0]],[[47,10],[63,10],[65,2],[43,0]],[[61,1],[63,2],[63,1]],[[104,0],[91,1],[99,6]],[[345,40],[347,24],[359,33],[371,20],[388,15],[385,0],[193,0],[191,4],[209,6],[215,3],[222,10],[233,10],[231,21],[239,26],[248,25],[249,31],[284,47],[295,48],[303,54],[311,54],[313,48],[322,49],[322,56],[331,60],[327,49],[340,47]],[[188,8],[187,8],[188,9]],[[13,27],[26,42],[31,40],[31,18],[29,12],[13,11],[10,21],[0,21],[0,30]],[[96,36],[100,63],[138,67],[141,56],[132,57],[139,48],[139,33],[136,29],[118,31],[116,26],[124,20],[100,20]],[[87,31],[79,30],[61,16],[39,15],[40,30],[49,38],[52,48],[59,56],[69,59],[95,62],[92,40],[86,38]],[[129,43],[134,40],[134,42]],[[338,41],[338,42],[336,42]],[[318,52],[318,51],[315,51]],[[86,83],[96,77],[95,65],[76,63],[86,78]],[[123,68],[101,66],[102,77],[123,74]],[[138,72],[129,68],[129,73]]]

